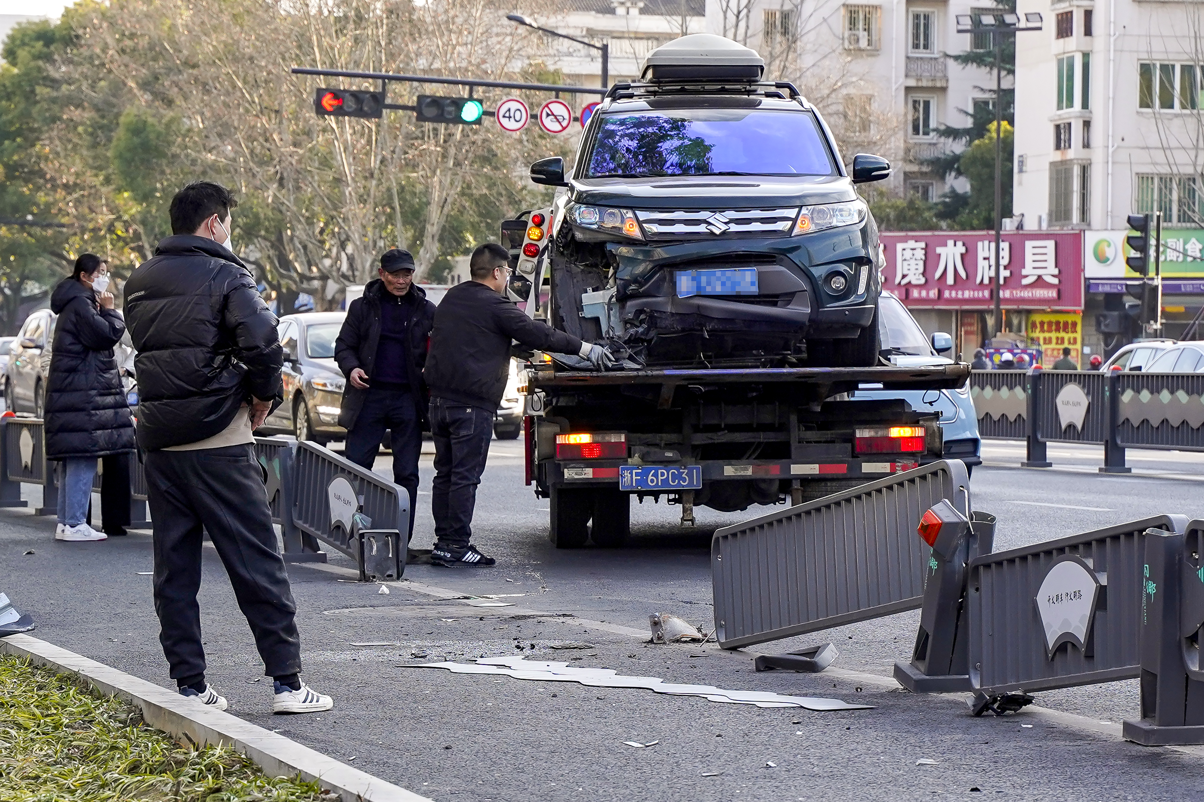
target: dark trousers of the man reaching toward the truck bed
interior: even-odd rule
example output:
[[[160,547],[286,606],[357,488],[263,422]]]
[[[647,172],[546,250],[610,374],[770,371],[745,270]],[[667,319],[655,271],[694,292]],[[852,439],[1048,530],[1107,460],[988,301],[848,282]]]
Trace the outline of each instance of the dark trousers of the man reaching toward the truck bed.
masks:
[[[435,440],[435,480],[431,482],[435,540],[444,546],[467,546],[472,539],[477,486],[485,473],[489,441],[494,439],[494,410],[432,398],[431,438]]]

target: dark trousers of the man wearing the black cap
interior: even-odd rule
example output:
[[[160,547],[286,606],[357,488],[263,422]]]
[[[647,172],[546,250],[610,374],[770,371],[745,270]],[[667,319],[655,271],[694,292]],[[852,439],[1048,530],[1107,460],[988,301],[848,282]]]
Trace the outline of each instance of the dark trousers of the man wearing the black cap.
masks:
[[[418,458],[423,453],[423,422],[414,397],[405,390],[368,390],[355,426],[347,433],[343,456],[372,470],[384,430],[393,450],[393,481],[409,493],[409,537],[418,506]],[[408,542],[408,541],[407,541]]]

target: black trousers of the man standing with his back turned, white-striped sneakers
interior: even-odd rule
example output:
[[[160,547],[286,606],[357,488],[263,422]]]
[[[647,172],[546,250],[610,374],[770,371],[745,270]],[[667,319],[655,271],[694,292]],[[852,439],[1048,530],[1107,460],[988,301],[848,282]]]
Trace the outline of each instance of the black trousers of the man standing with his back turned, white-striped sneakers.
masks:
[[[264,673],[301,671],[301,640],[289,576],[276,546],[264,470],[254,446],[150,451],[146,456],[154,525],[154,608],[171,678],[205,673],[201,647],[201,530],[225,565]]]

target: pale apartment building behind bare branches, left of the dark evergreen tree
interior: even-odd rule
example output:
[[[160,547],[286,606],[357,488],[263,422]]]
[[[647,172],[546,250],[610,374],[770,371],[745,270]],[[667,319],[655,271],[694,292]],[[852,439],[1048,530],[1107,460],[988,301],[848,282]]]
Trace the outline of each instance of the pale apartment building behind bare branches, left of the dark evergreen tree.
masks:
[[[957,32],[955,17],[978,11],[991,8],[967,0],[707,0],[707,31],[756,48],[768,73],[793,81],[820,107],[850,155],[874,150],[896,161],[896,190],[936,200],[949,186],[925,160],[950,147],[937,130],[967,126],[975,106],[992,102],[981,88],[993,87],[995,75],[949,59],[991,49],[990,34]]]

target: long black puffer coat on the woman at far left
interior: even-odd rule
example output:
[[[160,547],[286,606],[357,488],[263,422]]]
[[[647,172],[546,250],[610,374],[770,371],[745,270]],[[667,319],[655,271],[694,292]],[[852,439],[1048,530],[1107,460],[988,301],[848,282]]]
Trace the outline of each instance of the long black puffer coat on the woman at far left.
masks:
[[[122,313],[65,278],[51,293],[58,315],[46,381],[46,456],[104,457],[134,451],[134,418],[113,346],[125,333]]]

